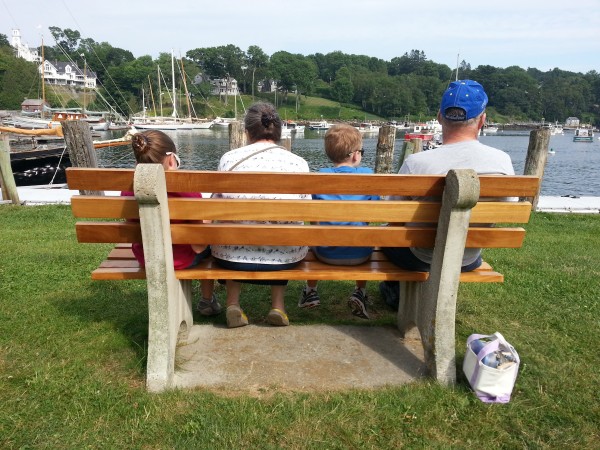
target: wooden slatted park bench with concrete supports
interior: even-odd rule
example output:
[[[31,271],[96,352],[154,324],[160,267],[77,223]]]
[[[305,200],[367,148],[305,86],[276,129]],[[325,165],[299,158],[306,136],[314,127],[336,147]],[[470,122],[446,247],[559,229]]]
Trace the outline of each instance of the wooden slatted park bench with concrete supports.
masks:
[[[135,197],[80,195],[72,198],[77,239],[115,243],[93,271],[95,280],[147,279],[149,334],[147,387],[172,386],[175,350],[193,324],[191,281],[195,279],[398,280],[401,304],[398,327],[403,333],[416,325],[430,374],[442,383],[456,379],[454,318],[459,282],[502,282],[501,273],[484,263],[461,273],[465,246],[517,248],[531,203],[494,198],[533,197],[539,179],[531,176],[481,176],[472,170],[444,176],[336,175],[244,172],[172,171],[162,166],[134,169],[67,169],[70,189],[133,191]],[[435,197],[438,201],[314,201],[170,198],[169,192],[338,193],[380,196]],[[478,201],[478,199],[489,201]],[[140,219],[138,222],[123,219]],[[95,220],[90,220],[95,219]],[[102,219],[98,221],[98,219]],[[118,219],[118,220],[106,220]],[[226,221],[227,223],[170,223]],[[255,224],[230,221],[304,221],[305,225]],[[318,221],[366,221],[371,226],[320,226]],[[377,223],[418,222],[425,225],[375,226]],[[497,224],[491,227],[490,224]],[[487,225],[487,226],[486,226]],[[145,269],[133,257],[130,244],[143,242]],[[367,263],[332,266],[311,253],[294,269],[279,272],[232,272],[211,259],[198,267],[174,270],[172,243],[333,245],[433,247],[431,272],[399,269],[376,251]]]

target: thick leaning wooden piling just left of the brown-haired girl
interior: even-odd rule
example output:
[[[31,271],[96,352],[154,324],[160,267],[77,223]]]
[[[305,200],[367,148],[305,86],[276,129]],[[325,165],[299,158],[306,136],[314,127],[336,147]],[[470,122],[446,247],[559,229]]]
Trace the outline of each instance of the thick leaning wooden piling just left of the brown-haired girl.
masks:
[[[65,145],[73,167],[98,167],[90,124],[83,120],[62,122]],[[80,191],[82,195],[104,195],[102,191]]]

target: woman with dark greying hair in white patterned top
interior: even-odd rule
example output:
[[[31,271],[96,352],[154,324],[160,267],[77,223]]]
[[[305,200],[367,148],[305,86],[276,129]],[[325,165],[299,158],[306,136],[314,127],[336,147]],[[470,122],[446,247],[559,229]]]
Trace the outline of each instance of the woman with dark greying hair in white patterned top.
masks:
[[[270,103],[255,103],[244,119],[249,145],[225,153],[219,162],[220,171],[235,172],[308,172],[308,163],[287,149],[275,144],[281,139],[282,122]],[[309,195],[274,194],[213,194],[221,198],[310,199]],[[280,222],[297,223],[297,222]],[[299,222],[301,224],[301,222]],[[217,264],[231,270],[275,271],[294,267],[306,256],[303,246],[239,246],[213,245]],[[244,281],[245,283],[248,281]],[[267,322],[275,326],[289,325],[284,294],[287,281],[250,281],[271,286],[271,311]],[[227,326],[242,327],[248,317],[240,308],[241,282],[227,280]]]

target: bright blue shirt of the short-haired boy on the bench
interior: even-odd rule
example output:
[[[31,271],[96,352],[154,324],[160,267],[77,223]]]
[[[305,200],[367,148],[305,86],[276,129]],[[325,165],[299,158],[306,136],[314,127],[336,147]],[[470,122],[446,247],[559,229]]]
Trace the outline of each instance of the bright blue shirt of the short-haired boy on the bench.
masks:
[[[346,173],[350,175],[360,173],[373,173],[368,167],[324,167],[319,170],[322,173]],[[380,200],[378,195],[331,195],[313,194],[313,200]],[[367,222],[320,222],[321,225],[355,225],[365,226]],[[369,255],[373,247],[318,247],[321,255],[330,259],[355,259]]]

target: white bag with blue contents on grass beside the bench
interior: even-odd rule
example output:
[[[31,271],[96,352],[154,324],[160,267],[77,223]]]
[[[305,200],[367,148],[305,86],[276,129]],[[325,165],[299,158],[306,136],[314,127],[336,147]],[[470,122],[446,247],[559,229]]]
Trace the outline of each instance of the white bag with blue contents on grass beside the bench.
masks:
[[[472,334],[467,339],[463,372],[475,395],[486,403],[508,403],[520,359],[504,336]]]

